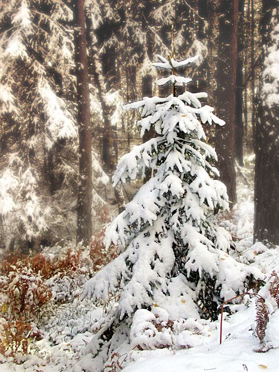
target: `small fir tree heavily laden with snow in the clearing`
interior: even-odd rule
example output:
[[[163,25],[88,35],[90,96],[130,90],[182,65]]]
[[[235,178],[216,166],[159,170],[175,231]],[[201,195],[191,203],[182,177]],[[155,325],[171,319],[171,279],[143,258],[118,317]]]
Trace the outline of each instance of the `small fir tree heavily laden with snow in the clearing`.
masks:
[[[106,246],[118,245],[119,256],[84,286],[84,296],[104,303],[119,296],[110,321],[87,348],[96,357],[96,370],[125,337],[131,348],[144,348],[138,338],[144,320],[162,314],[172,321],[216,319],[220,304],[242,291],[253,272],[230,257],[231,236],[212,219],[229,201],[216,179],[216,153],[206,143],[202,123],[225,122],[200,103],[206,93],[176,93],[178,85],[191,81],[176,69],[198,57],[158,58],[154,66],[169,74],[156,83],[171,83],[173,94],[126,105],[141,109],[141,136],[153,127],[157,137],[121,158],[114,183],[144,177],[148,169],[152,176],[106,229]]]

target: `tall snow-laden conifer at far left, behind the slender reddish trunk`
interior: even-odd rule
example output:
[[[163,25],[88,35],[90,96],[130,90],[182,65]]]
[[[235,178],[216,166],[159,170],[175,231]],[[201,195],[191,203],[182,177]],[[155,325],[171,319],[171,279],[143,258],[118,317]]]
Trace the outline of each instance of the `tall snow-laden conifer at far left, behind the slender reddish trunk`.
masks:
[[[0,245],[8,245],[10,236],[22,247],[33,248],[42,237],[51,244],[49,227],[63,238],[71,238],[75,228],[72,18],[62,0],[0,5],[0,219],[5,220]],[[94,113],[95,102],[92,94]],[[96,205],[95,191],[105,177],[95,154],[93,159]]]

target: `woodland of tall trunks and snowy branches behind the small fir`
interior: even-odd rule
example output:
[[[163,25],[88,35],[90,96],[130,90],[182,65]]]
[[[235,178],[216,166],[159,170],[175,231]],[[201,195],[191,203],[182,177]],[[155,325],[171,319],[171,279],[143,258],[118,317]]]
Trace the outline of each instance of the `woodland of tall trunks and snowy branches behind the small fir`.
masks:
[[[255,154],[255,239],[278,244],[279,88],[266,62],[268,46],[278,50],[276,17],[270,22],[277,4],[2,1],[2,247],[86,245],[113,205],[121,211],[131,199],[111,186],[119,157],[142,141],[137,114],[122,104],[166,93],[154,84],[156,54],[199,55],[184,72],[187,89],[208,92],[206,103],[227,123],[205,128],[220,179],[233,206],[236,172]]]

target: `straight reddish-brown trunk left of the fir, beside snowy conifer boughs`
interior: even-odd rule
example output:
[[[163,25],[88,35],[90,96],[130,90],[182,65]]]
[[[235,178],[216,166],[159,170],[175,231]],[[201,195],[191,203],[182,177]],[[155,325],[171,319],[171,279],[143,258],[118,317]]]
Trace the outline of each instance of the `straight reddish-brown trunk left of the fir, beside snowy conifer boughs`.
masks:
[[[78,106],[79,178],[77,195],[76,242],[88,244],[92,235],[92,154],[90,134],[90,98],[86,50],[85,11],[83,0],[74,2],[74,44],[76,95]]]

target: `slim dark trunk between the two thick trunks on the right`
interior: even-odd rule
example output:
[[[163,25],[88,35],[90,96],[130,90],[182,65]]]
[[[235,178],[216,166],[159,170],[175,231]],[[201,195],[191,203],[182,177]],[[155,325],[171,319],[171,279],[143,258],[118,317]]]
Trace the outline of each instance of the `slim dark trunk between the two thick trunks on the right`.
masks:
[[[238,3],[238,40],[237,40],[237,67],[236,67],[236,126],[235,126],[235,156],[240,166],[243,166],[243,61],[241,52],[243,50],[243,16],[244,0]]]

